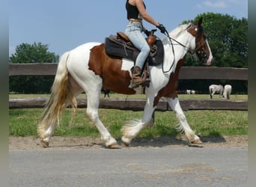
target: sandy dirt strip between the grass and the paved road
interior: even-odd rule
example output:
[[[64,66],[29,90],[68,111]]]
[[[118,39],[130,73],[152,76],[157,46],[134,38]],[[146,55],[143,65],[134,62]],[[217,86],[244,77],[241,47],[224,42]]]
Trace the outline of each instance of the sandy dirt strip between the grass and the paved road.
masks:
[[[201,138],[203,144],[188,144],[184,137],[181,138],[135,138],[129,148],[146,147],[248,147],[247,135],[233,135],[223,137]],[[121,141],[118,140],[121,144]],[[105,149],[100,138],[73,138],[73,137],[52,137],[50,147],[47,149]],[[34,137],[10,137],[10,150],[34,150],[43,149],[40,140]]]

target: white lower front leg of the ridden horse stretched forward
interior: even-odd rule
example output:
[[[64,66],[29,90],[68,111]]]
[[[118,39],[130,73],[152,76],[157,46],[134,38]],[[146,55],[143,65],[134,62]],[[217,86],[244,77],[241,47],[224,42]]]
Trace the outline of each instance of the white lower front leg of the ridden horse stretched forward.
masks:
[[[189,142],[192,144],[202,143],[200,138],[195,135],[195,132],[189,126],[189,123],[186,121],[186,116],[180,107],[180,101],[177,97],[175,98],[165,98],[167,99],[168,104],[171,106],[172,110],[176,114],[177,119],[179,120],[179,124],[177,126],[177,130],[180,132],[185,132],[186,137],[189,139]]]

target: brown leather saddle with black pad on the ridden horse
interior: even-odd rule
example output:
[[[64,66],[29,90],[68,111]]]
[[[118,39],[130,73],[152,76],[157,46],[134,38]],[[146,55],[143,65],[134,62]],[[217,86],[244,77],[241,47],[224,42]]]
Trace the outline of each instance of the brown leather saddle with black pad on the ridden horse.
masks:
[[[162,41],[156,38],[156,35],[154,35],[155,31],[156,29],[153,29],[145,39],[150,46],[150,55],[146,60],[150,66],[162,64],[164,58]],[[105,51],[110,56],[128,58],[134,62],[139,53],[139,50],[130,42],[127,35],[121,31],[118,31],[117,35],[106,37]]]

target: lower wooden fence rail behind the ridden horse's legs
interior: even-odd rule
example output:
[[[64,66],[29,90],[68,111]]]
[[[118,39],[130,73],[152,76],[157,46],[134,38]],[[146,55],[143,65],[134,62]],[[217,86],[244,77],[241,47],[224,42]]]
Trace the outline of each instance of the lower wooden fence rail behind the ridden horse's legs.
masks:
[[[9,108],[43,108],[47,97],[9,99]],[[87,101],[77,98],[78,108],[86,108]],[[120,110],[142,111],[145,99],[122,99],[105,98],[100,99],[100,108],[112,108]],[[184,111],[188,110],[247,110],[247,101],[231,101],[220,99],[180,99],[180,105]],[[156,111],[170,111],[168,102],[159,101]]]

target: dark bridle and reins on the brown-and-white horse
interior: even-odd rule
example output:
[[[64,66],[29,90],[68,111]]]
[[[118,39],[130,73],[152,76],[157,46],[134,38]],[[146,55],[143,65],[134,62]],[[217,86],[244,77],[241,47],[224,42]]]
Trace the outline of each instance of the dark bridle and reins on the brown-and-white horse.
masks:
[[[194,26],[194,28],[195,28],[195,25],[191,24],[191,25],[189,25],[188,28],[186,28],[186,31],[187,31],[191,26]],[[200,28],[200,30],[202,30],[202,28]],[[195,31],[198,33],[198,28],[195,28]],[[204,43],[206,43],[206,39],[204,40],[204,43],[201,43],[201,37],[200,37],[200,42],[199,42],[200,45],[199,45],[196,49],[193,49],[193,50],[192,50],[192,49],[189,49],[189,47],[185,46],[183,43],[180,43],[179,41],[175,40],[173,37],[170,37],[170,35],[168,34],[168,31],[165,30],[165,33],[164,33],[164,34],[165,34],[166,37],[168,37],[168,40],[169,40],[170,43],[171,43],[171,49],[172,49],[172,52],[173,52],[173,54],[174,54],[174,61],[175,61],[175,52],[174,52],[174,44],[173,44],[173,42],[172,42],[173,40],[174,40],[174,42],[180,44],[180,46],[183,46],[185,49],[187,49],[187,51],[190,53],[190,55],[194,55],[195,53],[196,53],[197,55],[200,55],[200,56],[201,56],[201,61],[206,61],[206,60],[208,59],[208,56],[207,56],[206,52],[204,52]],[[197,40],[198,40],[198,36],[195,36],[195,43],[196,43],[196,45],[197,45],[197,43],[198,43]],[[171,67],[173,67],[174,61],[173,61],[173,63],[171,64]],[[171,67],[169,68],[168,71],[165,71],[165,70],[163,70],[163,64],[162,64],[162,72],[163,72],[163,73],[168,73],[168,72],[171,70]]]

